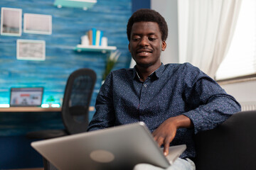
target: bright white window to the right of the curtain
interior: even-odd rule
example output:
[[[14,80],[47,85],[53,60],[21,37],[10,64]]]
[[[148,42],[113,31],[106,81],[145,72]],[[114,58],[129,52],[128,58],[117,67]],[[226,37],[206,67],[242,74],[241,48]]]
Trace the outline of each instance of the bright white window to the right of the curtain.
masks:
[[[256,1],[243,0],[233,40],[216,80],[256,74]]]

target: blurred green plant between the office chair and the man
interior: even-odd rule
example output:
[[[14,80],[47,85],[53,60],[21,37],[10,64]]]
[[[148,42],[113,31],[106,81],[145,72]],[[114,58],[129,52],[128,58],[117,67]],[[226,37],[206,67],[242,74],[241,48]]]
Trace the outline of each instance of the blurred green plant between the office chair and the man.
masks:
[[[114,68],[114,65],[117,64],[117,60],[120,55],[121,52],[119,52],[119,50],[116,50],[115,52],[111,52],[110,56],[107,57],[107,64],[105,67],[105,72],[102,75],[102,81],[105,81],[107,75],[110,74],[111,70]]]

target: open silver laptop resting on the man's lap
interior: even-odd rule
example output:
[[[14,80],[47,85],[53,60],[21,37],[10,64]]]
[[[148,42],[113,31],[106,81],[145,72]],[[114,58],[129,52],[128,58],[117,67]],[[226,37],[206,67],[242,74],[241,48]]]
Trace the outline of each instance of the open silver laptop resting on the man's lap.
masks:
[[[59,170],[131,170],[139,163],[166,168],[186,149],[186,145],[170,147],[167,159],[142,122],[41,140],[31,146]]]

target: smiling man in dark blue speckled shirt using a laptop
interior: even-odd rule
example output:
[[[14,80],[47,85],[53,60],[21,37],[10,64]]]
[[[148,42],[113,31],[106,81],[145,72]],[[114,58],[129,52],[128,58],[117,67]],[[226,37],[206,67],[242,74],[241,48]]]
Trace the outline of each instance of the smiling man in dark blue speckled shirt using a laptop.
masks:
[[[193,134],[209,130],[240,111],[235,98],[191,64],[162,64],[168,28],[151,9],[136,11],[127,24],[134,69],[111,72],[96,101],[88,130],[143,121],[168,154],[170,145],[187,149],[170,169],[194,169]],[[139,164],[134,169],[160,169]]]

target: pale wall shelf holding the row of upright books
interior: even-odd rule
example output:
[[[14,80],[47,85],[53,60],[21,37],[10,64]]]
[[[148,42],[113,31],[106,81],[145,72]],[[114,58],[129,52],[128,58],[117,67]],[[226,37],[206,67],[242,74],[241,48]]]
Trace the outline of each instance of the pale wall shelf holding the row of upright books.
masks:
[[[117,47],[115,46],[96,46],[96,45],[77,45],[74,49],[75,51],[82,52],[82,51],[90,51],[90,52],[110,52],[112,50],[117,50]]]

